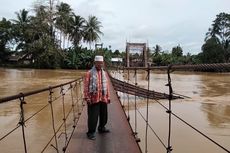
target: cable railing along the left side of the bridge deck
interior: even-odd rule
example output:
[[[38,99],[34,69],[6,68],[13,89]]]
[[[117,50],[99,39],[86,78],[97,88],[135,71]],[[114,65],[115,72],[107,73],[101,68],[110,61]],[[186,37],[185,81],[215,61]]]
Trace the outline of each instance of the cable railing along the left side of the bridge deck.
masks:
[[[83,79],[79,78],[56,86],[0,98],[0,105],[18,103],[16,112],[19,113],[18,124],[12,129],[1,129],[6,132],[0,135],[0,146],[14,141],[18,143],[11,147],[2,147],[1,150],[25,153],[65,152],[84,105],[82,89]],[[37,98],[39,96],[42,99]],[[44,101],[45,99],[47,100]],[[37,108],[36,111],[34,108]],[[39,122],[35,123],[36,120]],[[18,144],[23,146],[14,148],[19,147]],[[5,150],[6,148],[9,150]]]

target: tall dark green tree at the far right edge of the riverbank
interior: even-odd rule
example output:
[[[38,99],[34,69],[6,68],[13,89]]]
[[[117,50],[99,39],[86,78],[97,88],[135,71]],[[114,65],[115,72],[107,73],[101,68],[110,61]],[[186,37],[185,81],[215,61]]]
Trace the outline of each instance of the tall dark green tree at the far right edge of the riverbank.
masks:
[[[202,50],[203,62],[230,62],[230,14],[220,13],[216,16],[206,33]]]

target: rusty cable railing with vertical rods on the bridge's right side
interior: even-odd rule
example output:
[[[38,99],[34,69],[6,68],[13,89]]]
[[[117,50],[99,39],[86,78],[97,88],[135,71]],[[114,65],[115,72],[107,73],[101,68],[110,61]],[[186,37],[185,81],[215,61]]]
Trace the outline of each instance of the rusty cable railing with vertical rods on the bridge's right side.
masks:
[[[193,126],[191,123],[189,123],[188,121],[185,121],[182,117],[180,117],[179,115],[177,115],[173,110],[172,110],[172,97],[174,95],[179,95],[173,92],[172,89],[172,82],[171,82],[171,73],[175,70],[229,70],[230,68],[230,63],[223,63],[223,64],[200,64],[200,65],[189,65],[189,66],[177,66],[177,65],[169,65],[169,66],[163,66],[163,67],[118,67],[116,68],[116,73],[123,73],[123,81],[130,83],[130,71],[134,71],[134,77],[135,77],[135,81],[134,81],[134,85],[137,87],[136,89],[138,89],[138,80],[137,80],[137,70],[145,70],[147,72],[147,76],[146,76],[146,80],[147,80],[147,89],[148,89],[148,94],[150,95],[150,84],[151,84],[151,80],[150,80],[150,71],[152,70],[166,70],[167,71],[167,78],[168,78],[168,82],[166,84],[166,86],[168,86],[168,94],[169,94],[169,98],[168,98],[168,106],[163,105],[158,99],[155,99],[154,101],[157,102],[158,104],[160,104],[160,106],[162,106],[165,110],[166,113],[168,114],[168,136],[167,136],[167,142],[164,142],[164,140],[159,136],[159,134],[157,134],[157,132],[154,130],[153,126],[150,124],[150,120],[149,120],[149,96],[147,96],[146,98],[146,113],[143,114],[141,113],[141,111],[139,110],[139,108],[137,107],[137,96],[135,94],[134,96],[134,127],[133,127],[133,134],[136,138],[136,141],[140,141],[140,138],[138,137],[138,131],[137,131],[137,115],[139,114],[141,116],[141,118],[144,120],[145,122],[145,140],[144,140],[144,152],[147,153],[148,152],[148,136],[149,136],[149,130],[156,136],[156,138],[159,140],[160,144],[162,144],[162,146],[165,148],[167,153],[171,153],[173,151],[173,147],[171,145],[171,130],[172,130],[172,116],[174,116],[176,119],[178,119],[179,121],[181,121],[183,124],[187,125],[188,127],[190,127],[191,129],[193,129],[195,132],[199,133],[200,135],[202,135],[204,138],[206,138],[207,140],[209,140],[211,143],[215,144],[216,146],[218,146],[219,148],[221,148],[223,151],[230,153],[230,150],[228,150],[226,147],[222,146],[220,143],[218,143],[217,141],[215,141],[214,139],[210,138],[209,136],[207,136],[204,132],[202,132],[201,130],[199,130],[198,128],[196,128],[195,126]],[[125,79],[124,74],[127,74],[127,78]],[[116,74],[115,74],[116,75]],[[115,76],[115,78],[118,78],[117,76]],[[133,82],[132,82],[133,83]],[[125,84],[124,84],[125,85]],[[127,88],[124,87],[125,90],[127,90]],[[127,91],[125,93],[128,93]],[[136,91],[136,93],[138,93],[138,91]],[[183,95],[179,95],[182,96]],[[119,96],[121,97],[121,96]],[[186,96],[184,96],[186,97]],[[130,120],[130,97],[129,94],[127,94],[127,96],[125,97],[123,95],[123,98],[120,98],[121,100],[121,104],[124,108],[124,111],[126,112],[127,115],[127,120]],[[131,125],[130,125],[131,126]],[[131,126],[132,127],[132,126]]]

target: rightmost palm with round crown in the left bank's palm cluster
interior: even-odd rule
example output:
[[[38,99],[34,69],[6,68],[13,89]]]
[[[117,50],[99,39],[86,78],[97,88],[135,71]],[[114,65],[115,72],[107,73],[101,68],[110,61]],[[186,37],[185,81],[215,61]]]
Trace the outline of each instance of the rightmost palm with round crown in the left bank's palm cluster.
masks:
[[[90,48],[93,42],[97,42],[100,39],[100,34],[103,34],[100,31],[102,27],[101,22],[98,21],[97,17],[89,16],[86,25],[84,26],[84,41],[89,43]]]

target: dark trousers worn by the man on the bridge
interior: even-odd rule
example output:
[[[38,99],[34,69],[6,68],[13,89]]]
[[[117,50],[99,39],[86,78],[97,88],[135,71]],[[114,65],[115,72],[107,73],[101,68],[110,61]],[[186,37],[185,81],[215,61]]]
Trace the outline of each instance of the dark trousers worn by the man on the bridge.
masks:
[[[88,133],[96,132],[98,117],[98,128],[103,128],[108,121],[107,104],[104,102],[88,105]]]

